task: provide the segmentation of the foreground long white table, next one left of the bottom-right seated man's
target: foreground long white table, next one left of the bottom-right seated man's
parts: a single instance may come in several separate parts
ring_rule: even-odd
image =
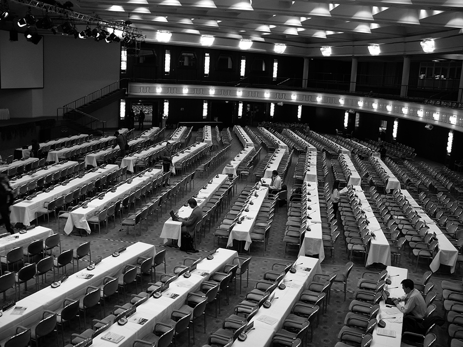
[[[319,259],[300,256],[295,264],[300,264],[295,267],[296,273],[287,272],[284,276],[284,280],[287,281],[286,288],[275,289],[276,292],[272,294],[275,299],[271,301],[271,306],[267,309],[262,306],[252,318],[254,330],[246,333],[248,337],[245,341],[236,340],[233,346],[268,347],[271,345],[273,335],[283,326],[285,318],[291,313],[291,308],[298,301],[302,291],[309,287],[315,274],[322,272]]]

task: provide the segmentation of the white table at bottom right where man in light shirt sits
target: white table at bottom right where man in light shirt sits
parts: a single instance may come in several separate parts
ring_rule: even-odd
[[[400,297],[404,295],[400,282],[405,280],[408,276],[408,270],[403,268],[397,268],[395,266],[388,266],[388,275],[390,276],[391,284],[387,285],[385,289],[389,291],[390,297]],[[396,318],[393,318],[396,317]],[[378,312],[377,320],[385,318],[387,330],[395,332],[396,337],[389,337],[384,335],[378,335],[379,327],[376,326],[373,330],[373,340],[371,347],[400,347],[402,340],[402,323],[403,313],[397,307],[386,307],[386,303],[381,300],[380,310]]]

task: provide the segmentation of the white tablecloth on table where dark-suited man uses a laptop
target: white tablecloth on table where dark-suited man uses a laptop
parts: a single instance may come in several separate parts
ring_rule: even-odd
[[[218,177],[217,175],[212,178],[211,183],[207,183],[207,186],[204,188],[201,188],[198,191],[196,202],[198,203],[199,208],[202,208],[207,201],[212,197],[212,195],[217,191],[217,189],[220,188],[220,186],[228,179],[228,175],[226,174],[219,174]],[[177,214],[181,218],[188,218],[190,217],[192,213],[192,209],[190,206],[182,206]],[[179,240],[178,245],[179,247],[181,246],[181,228],[182,228],[182,222],[178,221],[173,221],[172,217],[169,217],[169,219],[164,223],[162,226],[162,231],[161,237],[164,240],[164,243],[168,241],[169,238]]]

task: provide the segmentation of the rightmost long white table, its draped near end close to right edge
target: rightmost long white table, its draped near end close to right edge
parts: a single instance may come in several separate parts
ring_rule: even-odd
[[[408,200],[413,210],[418,213],[420,220],[423,221],[426,226],[428,226],[428,233],[435,233],[436,238],[439,241],[439,244],[437,245],[437,254],[429,265],[429,268],[432,270],[432,272],[436,272],[439,269],[440,264],[444,264],[450,266],[450,271],[454,273],[458,258],[457,248],[455,248],[455,246],[449,241],[445,234],[439,229],[439,227],[436,225],[436,222],[434,222],[423,211],[421,206],[418,205],[418,203],[415,201],[415,199],[413,199],[407,190],[402,189],[400,190],[400,193],[403,194],[403,196]]]

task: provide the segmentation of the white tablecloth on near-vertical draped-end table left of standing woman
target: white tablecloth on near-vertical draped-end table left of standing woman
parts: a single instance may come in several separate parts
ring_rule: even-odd
[[[318,198],[317,182],[310,182],[310,186],[306,186],[307,195],[310,200],[307,201],[307,227],[304,240],[302,241],[299,255],[316,255],[318,254],[320,262],[325,259],[325,249],[323,248],[322,237],[322,217],[320,216],[320,201]],[[311,218],[311,219],[309,219]]]

